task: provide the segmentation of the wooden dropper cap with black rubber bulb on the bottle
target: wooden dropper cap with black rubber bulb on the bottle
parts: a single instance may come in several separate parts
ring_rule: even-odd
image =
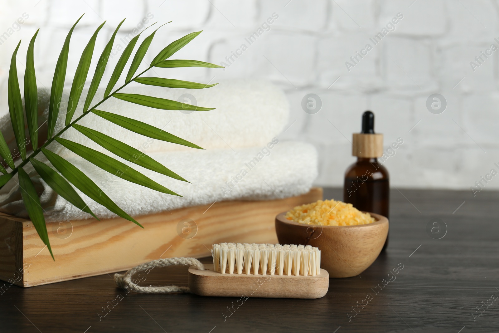
[[[364,158],[383,155],[383,134],[374,133],[374,113],[371,111],[362,114],[362,131],[353,133],[352,155]]]

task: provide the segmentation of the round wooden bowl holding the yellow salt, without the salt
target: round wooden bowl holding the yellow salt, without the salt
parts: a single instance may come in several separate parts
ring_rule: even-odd
[[[349,278],[364,272],[378,258],[388,235],[388,219],[369,213],[375,222],[357,226],[318,226],[287,220],[287,212],[275,217],[280,244],[318,247],[321,268],[331,278]]]

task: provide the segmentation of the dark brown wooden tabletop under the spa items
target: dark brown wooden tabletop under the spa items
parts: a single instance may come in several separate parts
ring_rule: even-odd
[[[360,276],[331,279],[322,299],[248,299],[226,317],[236,298],[127,295],[102,275],[11,286],[0,296],[0,332],[499,332],[499,192],[391,194],[388,250]],[[185,274],[158,269],[147,282],[185,284]]]

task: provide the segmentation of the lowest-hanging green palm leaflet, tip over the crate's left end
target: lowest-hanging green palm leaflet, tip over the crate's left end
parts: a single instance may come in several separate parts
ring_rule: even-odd
[[[43,209],[41,208],[38,193],[36,193],[36,189],[24,169],[19,168],[17,173],[19,175],[19,187],[21,188],[22,201],[26,206],[29,218],[43,241],[43,244],[47,246],[52,259],[55,260],[52,249],[50,248],[50,242],[48,241],[47,227],[45,226],[45,218],[43,217]]]

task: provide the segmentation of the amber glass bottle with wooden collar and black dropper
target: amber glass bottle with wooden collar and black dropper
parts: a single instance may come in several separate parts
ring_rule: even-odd
[[[343,201],[358,210],[389,215],[390,183],[388,170],[378,163],[383,155],[383,134],[374,133],[374,113],[362,115],[362,132],[353,134],[352,155],[357,162],[345,172]],[[388,246],[386,238],[383,250]]]

